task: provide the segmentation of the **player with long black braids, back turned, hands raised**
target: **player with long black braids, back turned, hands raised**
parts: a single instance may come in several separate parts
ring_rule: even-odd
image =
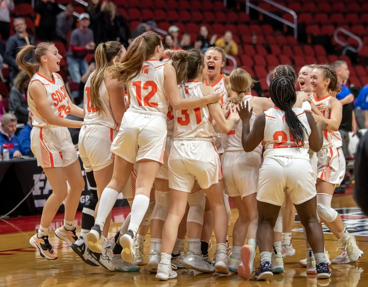
[[[270,84],[270,97],[275,108],[261,113],[256,118],[252,130],[250,119],[252,109],[249,104],[240,106],[243,120],[242,142],[245,151],[252,151],[264,140],[264,161],[259,171],[257,207],[257,240],[261,254],[261,264],[255,273],[256,280],[272,278],[271,249],[273,227],[280,207],[284,202],[287,186],[300,221],[305,227],[308,242],[315,253],[317,278],[329,278],[330,271],[323,252],[323,232],[316,216],[316,190],[313,170],[309,164],[308,146],[318,151],[322,146],[323,121],[315,123],[313,117],[300,108],[293,108],[296,102],[294,83],[287,77],[276,77]],[[303,180],[300,181],[300,178]],[[250,248],[241,250],[245,277],[250,276]]]

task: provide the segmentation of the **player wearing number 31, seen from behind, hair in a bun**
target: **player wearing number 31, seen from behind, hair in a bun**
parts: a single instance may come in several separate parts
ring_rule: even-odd
[[[206,98],[214,91],[212,87],[206,87],[201,82],[206,72],[206,65],[200,51],[176,52],[173,56],[173,65],[177,74],[177,84],[182,86],[180,89],[182,98]],[[177,277],[177,273],[171,269],[171,252],[187,202],[190,205],[188,221],[194,218],[202,225],[204,197],[194,193],[195,198],[190,200],[189,196],[195,179],[206,193],[213,210],[217,242],[215,270],[222,274],[229,273],[226,254],[227,218],[225,217],[227,214],[223,202],[222,169],[219,155],[212,142],[214,131],[210,113],[216,120],[219,130],[225,133],[229,132],[239,119],[237,113],[231,109],[229,119],[226,120],[218,103],[208,105],[208,108],[207,106],[181,110],[174,108],[174,140],[168,162],[171,204],[162,232],[161,261],[156,274],[156,279],[159,280]],[[191,232],[193,231],[188,230],[188,237],[191,238],[188,238],[188,253],[183,264],[189,256],[191,260],[188,260],[188,263],[191,263],[193,268],[199,269],[204,266],[199,266],[203,260],[199,238],[201,229],[196,232],[197,237],[194,238]]]

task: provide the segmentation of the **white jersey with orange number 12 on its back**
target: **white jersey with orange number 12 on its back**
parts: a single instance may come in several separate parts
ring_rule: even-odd
[[[143,62],[140,73],[127,84],[130,108],[167,114],[168,101],[164,90],[165,63],[150,59]]]

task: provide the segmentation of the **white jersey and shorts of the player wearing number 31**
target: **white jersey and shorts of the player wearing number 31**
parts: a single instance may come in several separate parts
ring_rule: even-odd
[[[180,88],[181,98],[203,97],[199,81]],[[212,116],[207,106],[174,111],[174,140],[169,158],[169,187],[191,192],[197,180],[202,189],[222,179],[222,168],[213,136]]]

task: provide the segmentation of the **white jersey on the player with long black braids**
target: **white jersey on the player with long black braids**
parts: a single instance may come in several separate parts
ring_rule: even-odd
[[[293,108],[293,112],[297,115],[302,125],[307,130],[305,135],[304,147],[296,148],[293,136],[290,132],[289,126],[286,123],[285,112],[279,108],[271,108],[265,111],[265,132],[263,140],[266,142],[265,153],[263,157],[277,156],[277,157],[293,157],[304,158],[309,160],[308,154],[308,138],[311,134],[307,115],[305,111],[300,108]]]

